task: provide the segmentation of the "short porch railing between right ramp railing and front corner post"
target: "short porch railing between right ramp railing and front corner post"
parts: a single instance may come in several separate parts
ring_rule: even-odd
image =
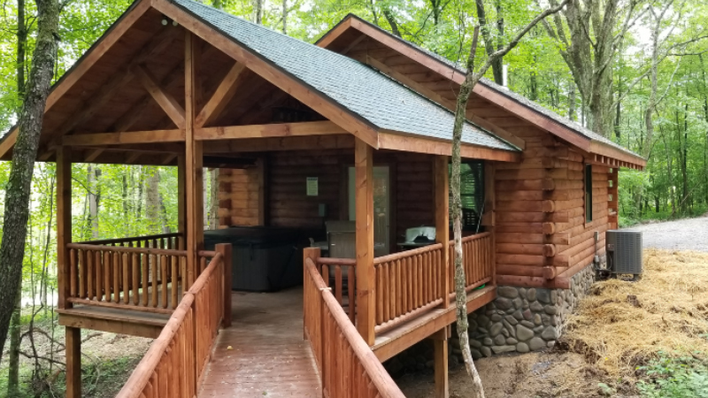
[[[353,258],[331,258],[319,257],[316,260],[317,271],[325,281],[325,286],[333,288],[335,300],[342,306],[344,312],[354,323],[356,319],[355,309],[357,287],[355,282],[355,266],[357,260]],[[346,293],[346,295],[345,295]]]

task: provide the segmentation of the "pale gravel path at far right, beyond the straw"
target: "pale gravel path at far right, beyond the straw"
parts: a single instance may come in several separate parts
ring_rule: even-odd
[[[708,251],[708,217],[631,226],[643,231],[644,248]]]

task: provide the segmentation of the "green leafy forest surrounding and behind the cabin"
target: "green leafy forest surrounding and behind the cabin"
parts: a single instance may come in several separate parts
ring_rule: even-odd
[[[132,3],[62,0],[58,80]],[[481,27],[478,58],[501,49],[529,15],[557,0],[204,0],[243,19],[316,42],[354,13],[463,65]],[[572,0],[543,20],[487,78],[618,142],[648,160],[620,170],[620,226],[708,211],[708,4],[695,0]],[[574,11],[568,11],[568,10]],[[34,1],[3,0],[0,14],[0,132],[19,118],[37,34]],[[505,81],[504,81],[505,80]],[[450,132],[451,134],[451,132]],[[0,162],[0,187],[11,164]],[[22,294],[0,364],[0,396],[61,394],[51,357],[19,341],[38,325],[51,341],[57,289],[56,166],[35,165]],[[73,165],[73,241],[174,232],[177,172],[171,167]],[[215,228],[216,171],[205,176],[205,228]],[[3,195],[4,196],[4,195]],[[19,310],[21,308],[21,310]],[[19,360],[21,357],[21,361]],[[31,361],[27,361],[31,357]],[[23,365],[18,369],[18,361]],[[30,364],[31,363],[31,364]],[[15,371],[12,371],[15,369]],[[18,376],[19,374],[19,376]],[[14,376],[13,376],[14,375]],[[17,379],[19,377],[19,379]],[[24,393],[22,393],[24,392]],[[21,393],[21,394],[20,394]]]

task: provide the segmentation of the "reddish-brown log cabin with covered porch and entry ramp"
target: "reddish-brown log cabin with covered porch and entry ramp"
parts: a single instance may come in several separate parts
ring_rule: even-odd
[[[382,363],[424,340],[448,396],[464,76],[355,16],[311,44],[193,0],[136,0],[44,114],[66,396],[81,396],[81,329],[156,339],[121,397],[402,397]],[[617,226],[619,168],[645,161],[489,80],[461,153],[475,354],[543,349]],[[177,167],[178,230],[72,241],[73,163]],[[218,231],[204,232],[205,168]]]

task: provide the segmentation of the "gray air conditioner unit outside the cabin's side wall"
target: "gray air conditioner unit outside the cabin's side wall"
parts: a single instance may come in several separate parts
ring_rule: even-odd
[[[614,274],[642,274],[642,231],[605,233],[607,268]]]

